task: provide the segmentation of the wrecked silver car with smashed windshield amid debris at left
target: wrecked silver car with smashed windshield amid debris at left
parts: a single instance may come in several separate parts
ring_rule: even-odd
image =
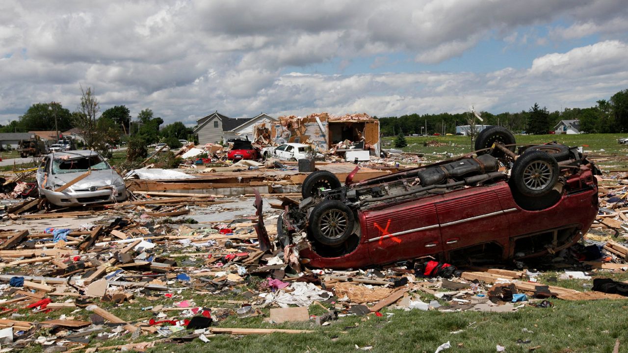
[[[37,184],[40,196],[58,206],[119,202],[127,197],[122,177],[95,151],[44,156],[37,170]]]

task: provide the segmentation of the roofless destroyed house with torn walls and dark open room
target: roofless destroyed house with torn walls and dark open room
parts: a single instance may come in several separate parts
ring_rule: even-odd
[[[364,149],[379,156],[379,120],[364,113],[281,116],[277,122],[255,124],[254,141],[259,144],[305,143],[318,151],[349,149],[348,141],[354,150]]]

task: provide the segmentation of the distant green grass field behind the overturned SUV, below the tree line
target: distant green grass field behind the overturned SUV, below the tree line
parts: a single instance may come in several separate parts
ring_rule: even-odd
[[[598,155],[618,155],[628,156],[628,145],[617,143],[617,139],[626,137],[625,134],[577,134],[577,135],[515,135],[517,143],[521,144],[541,144],[556,141],[568,146],[583,146],[585,151]],[[384,148],[394,148],[394,137],[384,138]],[[443,147],[425,147],[426,141],[438,141],[447,143]],[[454,156],[462,155],[474,150],[471,140],[467,136],[407,136],[408,146],[402,148],[405,152],[424,153],[428,161],[443,160],[445,153],[452,153]],[[604,151],[602,151],[604,150]],[[603,167],[625,168],[628,165],[628,158],[623,161],[602,161]]]

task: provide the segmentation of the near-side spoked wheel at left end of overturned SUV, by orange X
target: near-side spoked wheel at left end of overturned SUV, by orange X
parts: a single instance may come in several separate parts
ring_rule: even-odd
[[[349,206],[338,200],[325,200],[310,213],[310,235],[323,245],[335,246],[347,241],[355,226]]]

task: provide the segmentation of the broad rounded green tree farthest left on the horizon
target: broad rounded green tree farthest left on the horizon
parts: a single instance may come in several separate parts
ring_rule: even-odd
[[[59,131],[72,128],[72,114],[60,103],[35,103],[19,117],[22,131],[52,131],[55,129],[55,117]]]

